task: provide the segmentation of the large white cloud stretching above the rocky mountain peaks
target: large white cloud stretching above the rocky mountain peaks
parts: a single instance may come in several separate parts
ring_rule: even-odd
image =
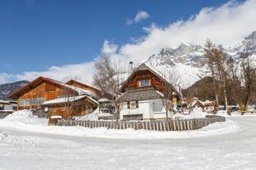
[[[176,21],[166,27],[152,24],[144,28],[145,37],[133,44],[123,44],[118,53],[138,63],[164,47],[177,48],[181,43],[204,46],[207,38],[227,48],[256,30],[255,20],[255,0],[230,1],[218,8],[203,8],[187,21]]]

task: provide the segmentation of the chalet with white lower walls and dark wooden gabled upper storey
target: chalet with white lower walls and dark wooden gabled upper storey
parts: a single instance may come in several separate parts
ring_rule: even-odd
[[[179,92],[167,80],[164,80],[158,71],[143,63],[131,72],[126,82],[121,87],[124,93],[119,98],[124,107],[121,109],[120,118],[123,120],[155,120],[166,117],[163,104],[166,90],[171,95],[173,108],[177,106]]]

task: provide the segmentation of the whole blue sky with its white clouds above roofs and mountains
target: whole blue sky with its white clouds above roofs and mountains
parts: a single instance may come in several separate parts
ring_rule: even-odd
[[[182,42],[234,45],[256,30],[255,11],[252,0],[1,0],[0,84],[73,75],[89,83],[103,52],[140,62]]]

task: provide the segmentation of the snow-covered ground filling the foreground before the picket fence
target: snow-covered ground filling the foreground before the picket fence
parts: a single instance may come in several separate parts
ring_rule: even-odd
[[[197,131],[89,129],[47,121],[29,112],[0,120],[0,169],[256,169],[255,113],[233,113]]]

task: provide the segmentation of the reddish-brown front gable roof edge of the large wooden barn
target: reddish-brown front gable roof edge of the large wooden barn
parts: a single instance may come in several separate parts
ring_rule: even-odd
[[[57,86],[59,88],[63,88],[63,89],[66,89],[66,90],[73,90],[73,91],[75,91],[73,88],[71,88],[68,85],[65,85],[65,84],[63,84],[63,83],[61,83],[61,82],[59,82],[57,80],[53,80],[53,79],[50,79],[50,78],[44,77],[44,76],[39,76],[35,80],[32,80],[29,84],[21,87],[21,89],[19,89],[19,90],[15,91],[14,93],[10,94],[8,96],[8,98],[17,99],[22,94],[26,94],[26,92],[36,88],[36,86],[42,84],[43,82],[46,82],[46,83],[48,83],[50,85],[55,85],[55,86]]]

